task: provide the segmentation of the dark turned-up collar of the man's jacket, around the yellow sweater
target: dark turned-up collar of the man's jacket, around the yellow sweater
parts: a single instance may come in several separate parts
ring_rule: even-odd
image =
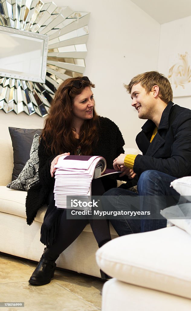
[[[173,102],[169,101],[169,103],[167,104],[166,108],[164,109],[163,113],[162,113],[162,117],[158,126],[158,130],[161,128],[168,128],[168,118],[169,118],[169,114],[170,114],[170,110],[173,106]],[[147,120],[145,122],[145,124],[143,124],[142,126],[142,130],[143,132],[149,132],[151,128],[154,127],[154,122],[151,120]]]

